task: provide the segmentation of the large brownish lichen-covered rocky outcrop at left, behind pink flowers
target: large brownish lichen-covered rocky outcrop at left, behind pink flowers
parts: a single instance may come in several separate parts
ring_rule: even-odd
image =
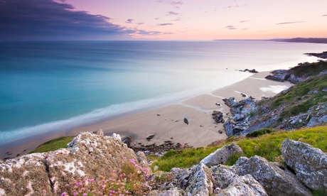
[[[129,159],[136,160],[136,155],[119,135],[82,133],[68,148],[0,161],[0,191],[3,195],[60,195],[72,178],[102,175],[109,179],[108,170],[119,170]]]

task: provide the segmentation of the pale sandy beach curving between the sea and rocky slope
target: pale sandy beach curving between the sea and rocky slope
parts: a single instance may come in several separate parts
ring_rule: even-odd
[[[35,136],[35,140],[27,143],[21,142],[20,146],[9,146],[7,149],[1,149],[1,159],[26,154],[41,143],[59,136],[75,136],[83,131],[97,131],[98,129],[102,129],[105,135],[117,133],[122,137],[132,136],[133,143],[161,144],[164,141],[171,140],[175,143],[188,143],[188,145],[194,147],[207,146],[213,141],[227,138],[223,124],[215,124],[211,115],[214,110],[217,110],[222,111],[225,118],[227,118],[230,109],[223,103],[224,98],[235,97],[237,101],[240,101],[246,98],[242,97],[241,93],[244,93],[248,97],[252,96],[259,100],[262,99],[262,96],[271,97],[283,89],[291,87],[289,82],[275,82],[264,79],[267,75],[269,75],[269,72],[259,72],[241,82],[197,97],[184,99],[177,104],[166,107],[123,116],[71,131],[64,131],[52,136],[47,134]],[[220,103],[220,106],[216,103]],[[184,118],[188,119],[188,124],[184,123]],[[223,131],[223,134],[219,133],[220,130]],[[154,138],[147,141],[146,137],[151,134],[155,135]]]

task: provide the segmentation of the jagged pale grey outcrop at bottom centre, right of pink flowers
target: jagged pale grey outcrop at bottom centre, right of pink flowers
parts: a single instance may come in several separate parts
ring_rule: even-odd
[[[226,165],[208,168],[200,163],[188,169],[173,168],[171,173],[175,177],[162,188],[173,195],[267,195],[264,187],[252,175],[239,176]],[[161,194],[168,192],[161,190]]]

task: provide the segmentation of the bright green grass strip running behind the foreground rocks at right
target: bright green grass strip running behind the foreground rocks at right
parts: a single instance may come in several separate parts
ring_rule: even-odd
[[[200,163],[200,160],[213,153],[216,149],[232,142],[237,143],[247,158],[254,155],[262,156],[269,161],[282,163],[282,152],[280,146],[282,141],[290,138],[294,141],[309,143],[314,148],[320,148],[327,152],[327,126],[316,126],[313,128],[300,129],[296,131],[272,131],[269,134],[263,134],[256,138],[238,138],[235,141],[226,141],[226,143],[215,147],[191,148],[183,151],[169,151],[168,156],[162,156],[158,162],[159,170],[169,171],[171,168],[190,168],[192,165]],[[233,165],[240,155],[235,155],[228,160],[227,165]]]

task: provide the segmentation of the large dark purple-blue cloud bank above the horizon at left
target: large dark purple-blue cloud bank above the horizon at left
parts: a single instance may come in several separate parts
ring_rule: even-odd
[[[53,0],[0,1],[0,29],[0,40],[117,39],[130,33],[106,16]]]

